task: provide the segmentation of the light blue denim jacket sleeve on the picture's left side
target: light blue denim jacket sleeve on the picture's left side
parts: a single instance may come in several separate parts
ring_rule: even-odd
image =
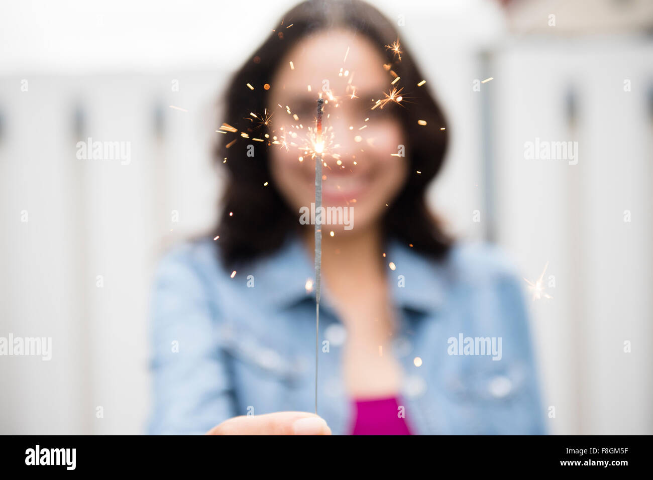
[[[235,416],[217,306],[191,246],[161,260],[150,307],[152,410],[148,434],[204,434]]]

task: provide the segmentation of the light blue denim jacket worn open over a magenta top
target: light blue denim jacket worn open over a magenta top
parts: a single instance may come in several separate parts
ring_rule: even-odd
[[[219,242],[219,240],[218,240]],[[236,272],[215,242],[168,252],[151,300],[150,434],[203,434],[237,415],[314,411],[313,261],[296,237]],[[498,249],[456,244],[443,261],[390,240],[389,291],[403,370],[400,412],[413,434],[545,434],[522,281]],[[347,332],[323,291],[317,413],[351,431],[343,385]],[[421,362],[419,359],[421,359]]]

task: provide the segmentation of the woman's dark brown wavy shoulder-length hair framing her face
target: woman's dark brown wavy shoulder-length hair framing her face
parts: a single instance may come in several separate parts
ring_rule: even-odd
[[[291,24],[293,26],[287,28]],[[426,187],[442,165],[449,129],[440,130],[447,123],[438,103],[428,89],[417,86],[423,77],[415,59],[403,44],[401,61],[385,47],[398,39],[398,31],[371,5],[359,0],[309,0],[283,15],[278,28],[234,74],[224,97],[226,121],[238,130],[219,135],[214,151],[216,163],[221,164],[225,157],[228,158],[229,179],[222,201],[223,211],[214,232],[220,236],[219,251],[228,268],[273,253],[289,234],[300,228],[298,214],[289,208],[279,191],[273,186],[263,186],[272,178],[268,148],[275,146],[265,142],[265,148],[257,148],[255,157],[247,157],[247,144],[252,142],[241,133],[254,133],[254,125],[245,118],[249,112],[270,108],[270,93],[263,86],[272,82],[289,50],[308,35],[332,28],[350,29],[372,40],[379,54],[401,77],[402,93],[411,101],[407,108],[396,108],[392,112],[405,126],[411,174],[385,211],[384,239],[394,236],[436,259],[449,249],[451,240],[429,212],[424,199]],[[419,127],[417,120],[426,120],[428,127]],[[264,138],[268,130],[265,126],[259,128],[264,131],[257,129],[252,136]],[[234,215],[230,216],[229,212]]]

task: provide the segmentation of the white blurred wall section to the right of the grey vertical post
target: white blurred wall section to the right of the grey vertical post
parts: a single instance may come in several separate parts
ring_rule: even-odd
[[[549,262],[556,281],[532,305],[554,432],[650,434],[653,46],[534,39],[502,48],[496,67],[498,240],[526,278]],[[579,142],[577,165],[524,159],[535,137]]]

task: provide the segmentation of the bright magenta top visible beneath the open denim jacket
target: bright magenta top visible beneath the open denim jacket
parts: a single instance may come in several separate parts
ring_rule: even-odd
[[[397,399],[355,400],[352,435],[410,435]]]

